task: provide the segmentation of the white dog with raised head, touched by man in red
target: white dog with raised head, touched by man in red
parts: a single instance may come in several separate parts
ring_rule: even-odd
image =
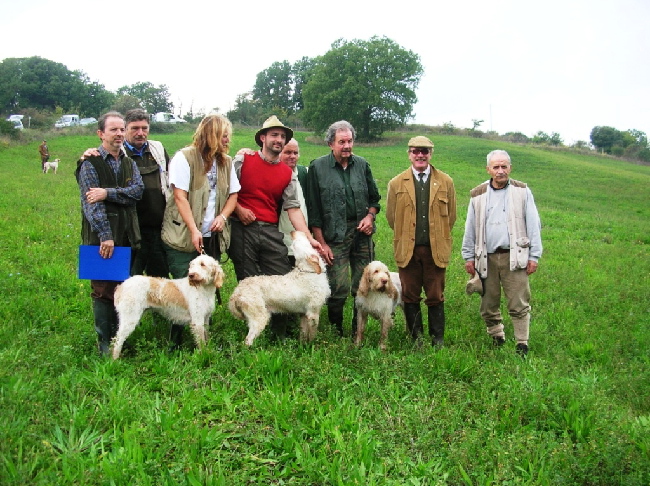
[[[291,237],[296,258],[293,270],[286,275],[245,278],[230,296],[230,312],[248,323],[244,341],[247,346],[253,344],[276,313],[299,314],[300,339],[312,341],[316,337],[321,307],[330,296],[325,262],[304,233],[293,231]]]

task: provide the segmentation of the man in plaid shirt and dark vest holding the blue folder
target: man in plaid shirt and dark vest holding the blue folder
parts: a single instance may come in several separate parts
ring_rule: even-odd
[[[97,135],[102,141],[99,155],[77,163],[81,237],[84,245],[96,245],[102,258],[111,258],[115,246],[138,248],[140,231],[136,202],[144,184],[135,162],[122,149],[126,132],[124,118],[116,111],[99,118]],[[111,214],[109,219],[108,215]],[[91,280],[95,331],[101,355],[109,354],[111,339],[117,331],[114,306],[115,288],[120,282]]]

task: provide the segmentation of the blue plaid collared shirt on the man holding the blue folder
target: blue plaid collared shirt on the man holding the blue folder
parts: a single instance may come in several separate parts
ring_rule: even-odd
[[[124,150],[120,150],[119,160],[115,159],[115,157],[113,157],[113,155],[111,155],[102,145],[99,146],[98,150],[101,158],[104,159],[104,162],[110,166],[117,176],[120,168],[120,161],[122,157],[126,157]],[[133,164],[133,180],[131,181],[131,184],[127,187],[105,188],[107,201],[122,204],[124,206],[134,206],[136,201],[142,197],[142,192],[144,190],[142,177],[140,176],[140,171],[135,162],[131,161],[131,163]],[[93,232],[97,233],[97,236],[99,236],[99,240],[112,240],[113,235],[108,222],[108,216],[106,215],[106,205],[103,201],[91,204],[86,198],[86,192],[94,187],[101,187],[99,185],[99,176],[97,175],[97,171],[93,165],[85,160],[83,164],[81,164],[81,169],[79,171],[81,208],[84,216],[90,223]]]

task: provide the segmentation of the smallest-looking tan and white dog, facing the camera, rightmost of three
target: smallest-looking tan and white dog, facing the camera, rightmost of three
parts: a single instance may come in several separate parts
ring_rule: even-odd
[[[389,272],[388,267],[375,260],[363,269],[359,290],[355,298],[357,307],[357,335],[354,344],[363,342],[368,316],[381,322],[379,348],[386,349],[388,330],[393,325],[395,308],[402,304],[402,283],[397,272]]]

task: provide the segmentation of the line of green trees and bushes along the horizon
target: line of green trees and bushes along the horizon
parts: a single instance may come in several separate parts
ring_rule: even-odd
[[[403,128],[413,117],[415,91],[423,72],[416,53],[386,37],[339,39],[322,56],[303,57],[293,64],[286,60],[271,64],[257,74],[252,90],[237,96],[227,116],[234,123],[257,127],[275,114],[288,125],[317,134],[323,133],[332,121],[346,119],[357,129],[360,141],[373,141],[386,131]],[[63,113],[97,117],[108,110],[174,110],[164,84],[139,82],[111,92],[82,71],[70,71],[63,64],[37,56],[2,61],[0,86],[0,110],[28,116],[33,127],[51,126],[53,118]],[[195,113],[192,107],[183,115],[190,122],[203,116],[202,111]],[[452,123],[418,128],[430,133],[564,146],[556,132],[539,131],[532,137],[521,132],[499,135],[481,131],[482,123],[472,120],[471,128],[457,128]],[[571,147],[593,147],[610,155],[650,162],[647,136],[634,129],[597,126],[591,131],[590,142],[580,140]]]

